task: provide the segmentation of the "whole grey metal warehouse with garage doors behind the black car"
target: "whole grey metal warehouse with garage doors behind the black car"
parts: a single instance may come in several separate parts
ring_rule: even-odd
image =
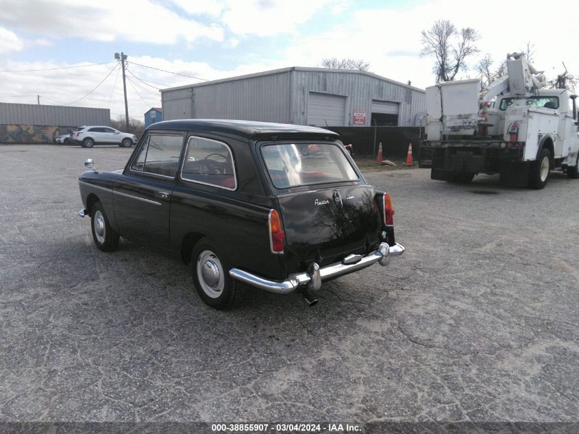
[[[364,71],[291,67],[162,89],[163,119],[419,125],[425,91]]]

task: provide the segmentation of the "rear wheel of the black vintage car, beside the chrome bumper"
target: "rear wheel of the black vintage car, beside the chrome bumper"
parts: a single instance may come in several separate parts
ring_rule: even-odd
[[[191,274],[201,300],[215,309],[226,309],[241,296],[240,287],[229,275],[225,257],[208,238],[201,239],[193,248]]]

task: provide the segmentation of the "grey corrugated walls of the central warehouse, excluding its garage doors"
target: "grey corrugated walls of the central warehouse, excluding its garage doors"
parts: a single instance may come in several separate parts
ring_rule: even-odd
[[[400,126],[415,125],[426,112],[424,91],[364,73],[287,69],[239,80],[162,91],[163,119],[246,119],[308,125],[310,92],[346,98],[346,126],[354,110],[370,125],[373,100],[399,104]]]

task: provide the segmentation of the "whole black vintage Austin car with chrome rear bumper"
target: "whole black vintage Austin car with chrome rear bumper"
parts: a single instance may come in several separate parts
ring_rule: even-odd
[[[315,145],[317,152],[308,152]],[[230,305],[243,282],[310,291],[373,263],[395,242],[387,193],[374,191],[339,136],[321,128],[226,120],[154,123],[124,169],[79,177],[97,248],[119,236],[190,263],[199,296]]]

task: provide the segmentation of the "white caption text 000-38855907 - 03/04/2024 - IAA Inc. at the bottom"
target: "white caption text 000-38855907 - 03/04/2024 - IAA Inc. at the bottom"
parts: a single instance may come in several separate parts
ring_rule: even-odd
[[[357,424],[317,424],[317,423],[278,423],[278,424],[212,424],[211,431],[234,433],[357,433]]]

